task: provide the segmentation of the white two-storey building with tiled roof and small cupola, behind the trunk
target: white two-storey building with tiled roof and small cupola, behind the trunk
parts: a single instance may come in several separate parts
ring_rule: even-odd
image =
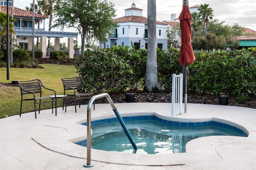
[[[118,28],[108,35],[108,42],[100,43],[100,48],[112,47],[113,45],[132,46],[136,49],[148,48],[148,20],[142,16],[142,9],[136,8],[133,3],[131,8],[125,9],[125,16],[114,19]],[[167,48],[167,24],[156,21],[157,47]]]

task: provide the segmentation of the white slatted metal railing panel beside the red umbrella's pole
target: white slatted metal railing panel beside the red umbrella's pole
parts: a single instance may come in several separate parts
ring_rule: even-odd
[[[183,74],[172,74],[172,116],[182,114]]]

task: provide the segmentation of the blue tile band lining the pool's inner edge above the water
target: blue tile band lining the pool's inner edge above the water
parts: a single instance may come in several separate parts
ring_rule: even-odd
[[[162,123],[164,125],[171,125],[171,126],[178,126],[178,127],[204,127],[208,125],[215,125],[218,127],[226,128],[228,130],[232,130],[234,132],[237,132],[238,134],[247,137],[248,134],[241,130],[240,128],[234,127],[232,125],[228,125],[226,123],[221,123],[217,121],[207,121],[207,122],[176,122],[176,121],[167,121],[164,119],[161,119],[159,117],[156,117],[154,115],[149,116],[129,116],[129,117],[122,117],[124,121],[137,121],[137,120],[154,120],[158,123]],[[98,125],[103,123],[112,123],[112,122],[118,122],[117,118],[108,118],[108,119],[100,119],[96,121],[91,121],[91,125]],[[87,123],[81,123],[81,125],[87,125]],[[74,142],[75,144],[84,146],[86,145],[87,140],[82,140],[79,142]]]

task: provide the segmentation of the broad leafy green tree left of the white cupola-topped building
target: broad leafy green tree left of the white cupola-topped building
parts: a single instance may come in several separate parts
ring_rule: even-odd
[[[76,28],[82,38],[81,52],[86,42],[107,42],[106,34],[118,27],[113,22],[116,10],[112,2],[106,0],[60,0],[57,19],[53,27]]]

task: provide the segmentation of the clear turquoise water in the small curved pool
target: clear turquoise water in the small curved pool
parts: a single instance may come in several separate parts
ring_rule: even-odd
[[[125,121],[134,139],[138,154],[170,154],[185,152],[188,141],[203,136],[242,136],[227,128],[208,125],[203,127],[178,127],[164,125],[155,120]],[[92,148],[106,151],[132,153],[130,144],[119,122],[92,125]]]

